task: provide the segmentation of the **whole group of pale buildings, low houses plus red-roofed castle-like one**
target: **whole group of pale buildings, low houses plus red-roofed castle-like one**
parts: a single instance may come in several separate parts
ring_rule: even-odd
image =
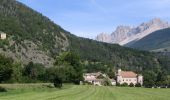
[[[143,76],[136,74],[133,71],[122,71],[118,69],[115,73],[116,76],[113,79],[110,79],[108,75],[97,72],[97,73],[84,73],[84,81],[88,82],[95,86],[105,85],[104,81],[108,79],[112,86],[119,85],[128,85],[128,86],[142,86],[143,85]]]

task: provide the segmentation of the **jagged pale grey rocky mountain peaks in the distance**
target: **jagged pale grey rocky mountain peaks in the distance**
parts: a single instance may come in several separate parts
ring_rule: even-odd
[[[107,43],[117,43],[120,45],[125,45],[130,42],[138,41],[144,38],[145,36],[151,34],[152,32],[168,27],[170,27],[168,22],[162,21],[159,18],[154,18],[151,21],[147,23],[142,23],[134,28],[131,28],[130,26],[118,26],[117,29],[111,35],[102,34],[100,35],[100,38],[96,38],[96,40]],[[103,41],[103,37],[107,38],[104,38]]]

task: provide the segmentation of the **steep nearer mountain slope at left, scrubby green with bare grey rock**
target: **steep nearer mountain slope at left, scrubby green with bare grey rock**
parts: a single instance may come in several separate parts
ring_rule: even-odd
[[[15,0],[0,0],[0,31],[8,44],[0,52],[25,63],[52,65],[52,56],[68,46],[60,26]]]

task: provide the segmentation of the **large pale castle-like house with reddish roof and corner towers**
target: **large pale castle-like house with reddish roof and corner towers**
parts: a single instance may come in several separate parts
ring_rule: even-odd
[[[117,72],[117,83],[127,83],[128,85],[130,85],[130,83],[134,85],[140,83],[143,85],[143,76],[132,71],[122,71],[119,69]]]

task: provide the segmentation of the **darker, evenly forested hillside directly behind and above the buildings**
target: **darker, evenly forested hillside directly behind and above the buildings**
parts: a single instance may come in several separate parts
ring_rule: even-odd
[[[138,51],[119,45],[97,42],[90,39],[70,36],[70,50],[78,53],[83,60],[105,62],[112,67],[143,71],[155,69],[159,62],[154,54]]]

